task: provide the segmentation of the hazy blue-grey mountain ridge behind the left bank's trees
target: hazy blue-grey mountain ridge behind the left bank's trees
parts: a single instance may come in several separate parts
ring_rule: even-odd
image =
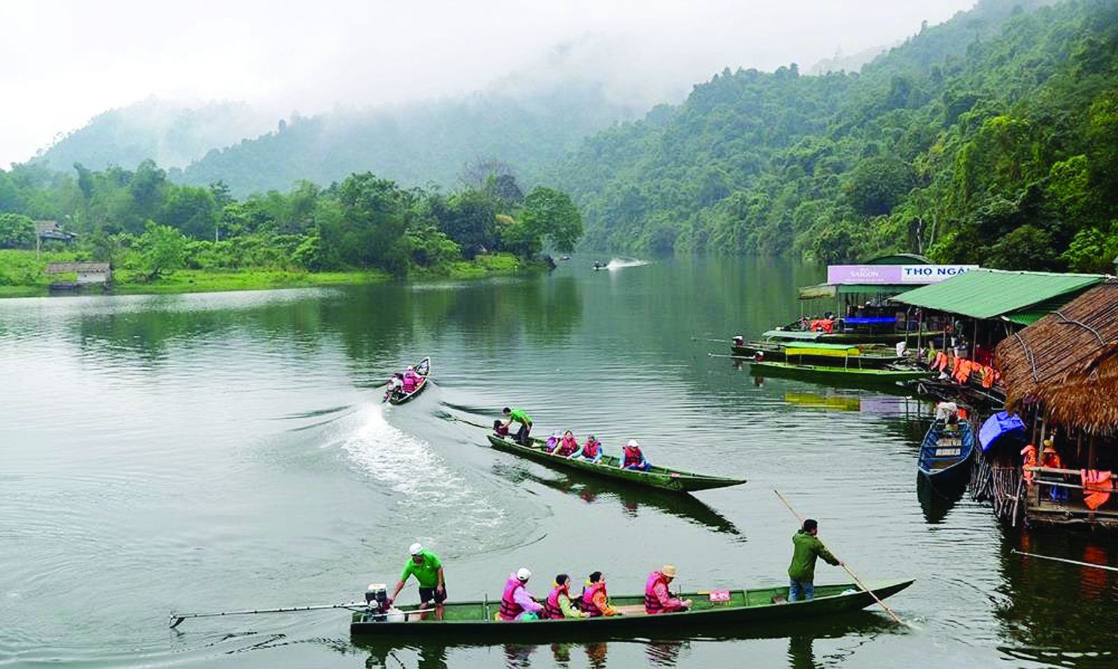
[[[453,185],[463,166],[496,159],[522,174],[574,150],[631,108],[589,80],[524,94],[496,89],[464,98],[295,117],[280,130],[245,140],[171,178],[229,184],[237,194],[286,190],[299,180],[330,183],[372,171],[409,185]]]

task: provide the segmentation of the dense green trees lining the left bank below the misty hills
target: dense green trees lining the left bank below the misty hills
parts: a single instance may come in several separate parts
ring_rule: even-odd
[[[34,220],[79,235],[77,257],[142,269],[284,268],[437,273],[479,254],[524,259],[544,245],[570,250],[582,230],[571,199],[539,187],[527,195],[503,165],[471,170],[453,193],[405,189],[371,173],[320,188],[300,182],[237,200],[220,182],[180,185],[152,161],[135,170],[75,165],[75,174],[25,164],[0,171],[0,248],[35,248]],[[64,242],[50,242],[66,249]],[[22,271],[35,276],[22,276]],[[0,284],[35,284],[41,266],[0,271]]]

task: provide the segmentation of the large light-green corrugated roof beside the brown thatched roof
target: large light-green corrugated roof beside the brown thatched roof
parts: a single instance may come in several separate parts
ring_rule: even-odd
[[[1050,274],[972,269],[938,284],[921,286],[892,297],[893,302],[972,318],[996,318],[1067,296],[1101,283],[1100,274]]]

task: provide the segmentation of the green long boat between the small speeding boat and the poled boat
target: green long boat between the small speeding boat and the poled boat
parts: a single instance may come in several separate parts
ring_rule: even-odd
[[[676,493],[692,493],[694,490],[709,490],[711,488],[724,488],[746,482],[746,479],[724,478],[721,476],[707,476],[704,474],[693,474],[681,469],[669,467],[653,467],[648,471],[636,471],[633,469],[622,469],[620,459],[608,453],[601,456],[601,462],[588,462],[578,458],[565,458],[549,453],[543,448],[543,441],[530,439],[531,446],[521,446],[510,439],[503,439],[496,434],[489,436],[493,448],[509,453],[514,453],[537,462],[542,462],[551,467],[565,469],[576,469],[596,476],[604,476],[610,479],[624,481],[635,486],[647,488],[660,488],[662,490],[674,490]]]

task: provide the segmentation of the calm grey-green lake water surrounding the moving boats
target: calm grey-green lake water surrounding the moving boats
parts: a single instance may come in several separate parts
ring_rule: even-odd
[[[485,281],[0,302],[0,666],[1114,667],[1118,574],[1021,548],[1118,557],[1106,536],[1018,533],[964,497],[921,506],[929,408],[755,381],[722,342],[798,316],[796,260],[675,258]],[[436,385],[378,386],[425,355]],[[536,432],[641,440],[654,462],[740,476],[675,499],[491,450],[505,404]],[[864,579],[917,579],[880,612],[736,639],[362,647],[349,614],[168,613],[361,599],[407,546],[453,599],[600,570],[642,592],[785,584],[796,520]],[[844,582],[819,563],[816,582]],[[401,601],[416,599],[411,585]]]

